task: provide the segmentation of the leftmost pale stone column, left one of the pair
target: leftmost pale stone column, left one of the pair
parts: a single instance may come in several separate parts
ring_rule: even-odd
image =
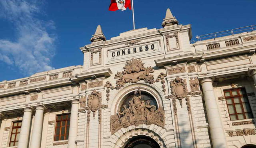
[[[18,148],[28,148],[28,137],[30,134],[32,109],[25,108],[20,129]]]

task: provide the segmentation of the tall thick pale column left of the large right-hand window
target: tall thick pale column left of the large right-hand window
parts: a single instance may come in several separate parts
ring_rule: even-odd
[[[218,104],[214,95],[211,78],[200,81],[204,94],[204,102],[208,116],[212,145],[214,148],[227,148],[226,135],[222,125]]]

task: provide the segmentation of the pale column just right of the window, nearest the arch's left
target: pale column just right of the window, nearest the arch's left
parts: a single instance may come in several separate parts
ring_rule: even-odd
[[[69,135],[68,135],[68,148],[76,148],[75,140],[77,138],[77,128],[78,128],[78,108],[79,108],[79,101],[72,100]]]

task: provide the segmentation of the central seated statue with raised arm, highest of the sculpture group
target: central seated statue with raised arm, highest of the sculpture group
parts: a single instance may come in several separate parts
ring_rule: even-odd
[[[133,115],[142,114],[144,112],[144,105],[142,104],[141,99],[141,91],[140,87],[138,87],[138,91],[134,91],[134,97],[130,102],[130,111]]]

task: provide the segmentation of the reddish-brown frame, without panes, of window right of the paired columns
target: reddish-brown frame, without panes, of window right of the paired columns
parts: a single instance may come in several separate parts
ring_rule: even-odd
[[[58,120],[58,116],[64,116],[64,115],[66,115],[66,119],[62,119],[62,117],[61,117],[60,120]],[[68,135],[67,135],[67,127],[70,126],[70,117],[68,118],[68,115],[71,116],[71,113],[68,112],[68,113],[65,113],[65,114],[56,114],[55,129],[54,129],[54,142],[55,142],[55,141],[60,141],[61,136],[63,136],[63,134],[61,133],[61,128],[62,128],[62,127],[65,127],[65,131],[64,131],[64,140],[68,140],[68,137],[67,137],[67,136],[69,136],[69,131],[68,131]],[[66,122],[65,122],[65,126],[62,126],[62,121],[66,121]],[[67,121],[69,121],[69,125],[67,125]],[[57,125],[58,125],[58,124],[57,124],[58,122],[60,122],[60,126],[57,126]],[[58,135],[56,135],[57,128],[60,128],[60,133],[59,133]],[[68,128],[68,130],[69,130],[69,128]],[[58,136],[59,138],[56,139],[56,136]]]

